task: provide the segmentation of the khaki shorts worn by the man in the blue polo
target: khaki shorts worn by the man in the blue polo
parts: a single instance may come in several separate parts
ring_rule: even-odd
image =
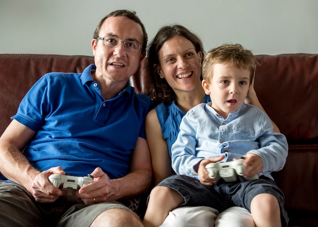
[[[113,208],[134,213],[116,201],[87,205],[68,195],[54,203],[39,203],[21,185],[0,181],[0,226],[88,227],[98,215]]]

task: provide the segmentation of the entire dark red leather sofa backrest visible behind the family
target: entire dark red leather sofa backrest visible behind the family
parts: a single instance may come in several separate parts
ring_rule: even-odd
[[[255,90],[270,118],[291,144],[318,143],[318,55],[257,55]],[[50,71],[81,72],[92,56],[0,54],[0,133],[27,90]],[[145,93],[144,61],[130,79]]]

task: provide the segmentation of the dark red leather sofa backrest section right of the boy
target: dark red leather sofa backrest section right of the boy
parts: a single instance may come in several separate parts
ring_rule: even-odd
[[[293,143],[318,143],[318,55],[258,55],[255,90],[262,106]]]

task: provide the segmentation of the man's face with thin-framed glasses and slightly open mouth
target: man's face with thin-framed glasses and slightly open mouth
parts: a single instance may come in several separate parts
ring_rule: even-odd
[[[112,36],[125,42],[136,41],[143,43],[143,30],[140,24],[126,17],[109,17],[101,26],[100,37]],[[124,49],[123,43],[118,47],[107,47],[103,40],[92,40],[92,50],[96,64],[96,78],[110,82],[126,82],[133,75],[140,61],[145,56],[141,48],[138,52]]]

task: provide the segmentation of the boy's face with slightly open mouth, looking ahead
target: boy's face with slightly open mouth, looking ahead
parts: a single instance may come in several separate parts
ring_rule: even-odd
[[[212,107],[226,119],[244,102],[249,85],[249,70],[240,69],[231,64],[216,63],[211,83],[202,81],[207,95],[210,95]]]

